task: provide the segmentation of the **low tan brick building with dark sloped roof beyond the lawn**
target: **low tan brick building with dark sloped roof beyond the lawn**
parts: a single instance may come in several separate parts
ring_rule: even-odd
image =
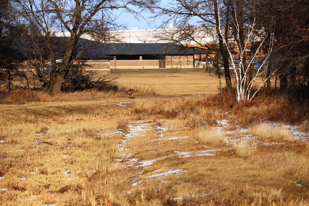
[[[201,51],[164,43],[112,44],[103,49],[112,56],[110,69],[194,68]]]

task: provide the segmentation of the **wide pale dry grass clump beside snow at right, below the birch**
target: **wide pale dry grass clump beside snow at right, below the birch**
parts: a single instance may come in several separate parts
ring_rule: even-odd
[[[249,133],[252,133],[254,136],[263,139],[263,140],[271,140],[271,141],[291,141],[291,137],[287,129],[283,126],[275,126],[271,127],[269,124],[257,124],[254,125]]]

